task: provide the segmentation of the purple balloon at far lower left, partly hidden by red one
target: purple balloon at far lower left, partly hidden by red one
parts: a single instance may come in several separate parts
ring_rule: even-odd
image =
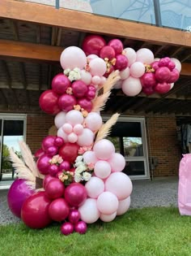
[[[28,187],[26,180],[17,179],[11,184],[11,188],[7,194],[7,202],[11,212],[18,218],[21,218],[23,202],[25,202],[32,193],[35,193],[35,191]]]

